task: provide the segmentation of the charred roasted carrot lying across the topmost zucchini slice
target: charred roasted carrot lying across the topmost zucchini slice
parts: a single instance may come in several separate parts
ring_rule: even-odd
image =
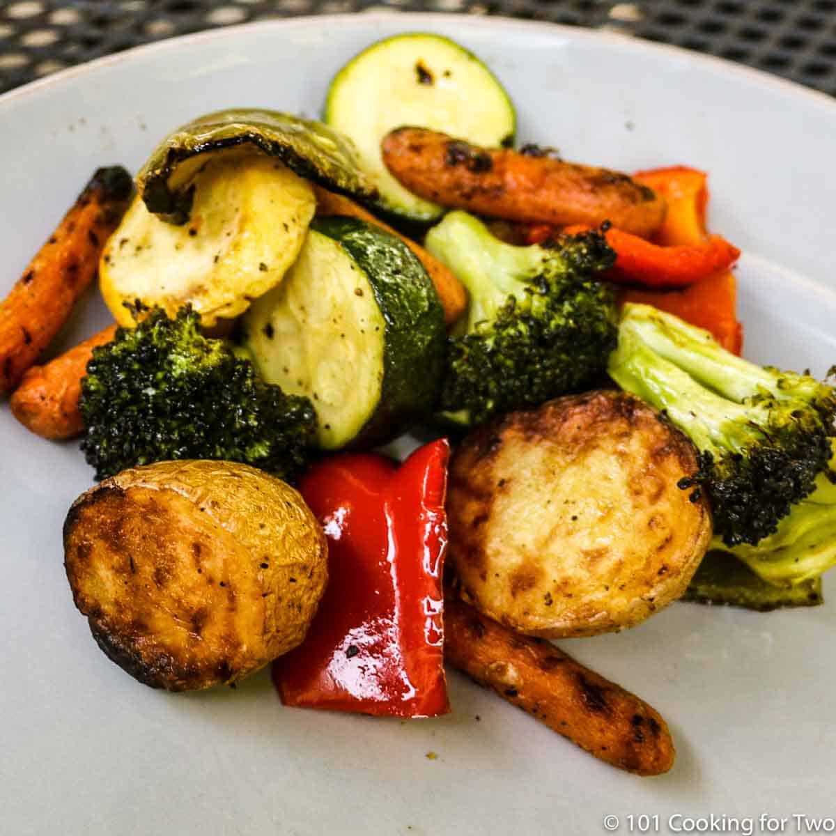
[[[583,223],[650,237],[665,218],[665,200],[625,174],[484,149],[421,128],[386,135],[383,159],[416,195],[488,217],[557,227]]]

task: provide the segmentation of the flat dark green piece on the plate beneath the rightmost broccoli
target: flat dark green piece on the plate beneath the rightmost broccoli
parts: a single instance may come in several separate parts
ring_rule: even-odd
[[[758,578],[733,554],[716,550],[702,559],[682,600],[728,604],[762,613],[782,607],[815,607],[824,603],[820,577],[793,586],[775,586]]]

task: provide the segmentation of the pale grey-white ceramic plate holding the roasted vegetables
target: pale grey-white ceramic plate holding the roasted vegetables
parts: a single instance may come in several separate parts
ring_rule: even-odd
[[[710,171],[712,226],[746,251],[747,354],[819,374],[836,360],[836,104],[696,54],[497,19],[230,28],[7,94],[0,291],[96,166],[135,169],[171,128],[209,110],[316,115],[346,59],[415,29],[487,61],[517,105],[522,140],[628,171]],[[91,295],[64,342],[106,319]],[[237,691],[151,691],[98,650],[69,594],[61,523],[91,483],[77,446],[30,436],[3,408],[0,476],[3,833],[603,833],[605,815],[629,833],[631,814],[658,816],[650,832],[665,833],[689,826],[669,821],[677,813],[755,817],[755,833],[766,813],[793,833],[793,813],[836,813],[836,600],[776,614],[675,604],[624,634],[563,642],[669,721],[676,765],[640,779],[456,674],[455,712],[436,721],[283,709],[266,672]]]

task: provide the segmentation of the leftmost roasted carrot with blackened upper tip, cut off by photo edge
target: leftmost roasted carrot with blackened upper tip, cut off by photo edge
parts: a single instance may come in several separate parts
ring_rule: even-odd
[[[0,393],[14,389],[67,321],[96,274],[104,242],[125,213],[132,188],[121,166],[96,171],[0,303]]]

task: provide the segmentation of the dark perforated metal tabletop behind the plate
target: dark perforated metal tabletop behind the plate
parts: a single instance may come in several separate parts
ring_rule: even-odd
[[[719,55],[836,95],[836,0],[12,0],[0,2],[0,92],[172,35],[368,9],[611,28]]]

